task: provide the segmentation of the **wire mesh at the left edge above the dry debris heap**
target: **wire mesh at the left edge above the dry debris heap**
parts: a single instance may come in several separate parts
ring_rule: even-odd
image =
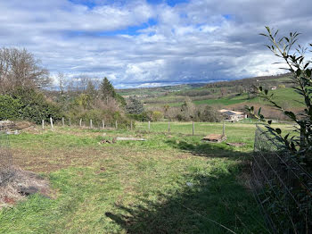
[[[0,124],[0,185],[9,180],[13,173],[8,130],[9,124]]]

